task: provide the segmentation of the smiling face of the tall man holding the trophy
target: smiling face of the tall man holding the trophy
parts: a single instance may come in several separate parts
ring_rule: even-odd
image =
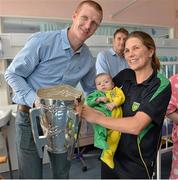
[[[93,7],[84,4],[81,9],[73,15],[73,33],[79,42],[88,39],[100,25],[102,16]]]

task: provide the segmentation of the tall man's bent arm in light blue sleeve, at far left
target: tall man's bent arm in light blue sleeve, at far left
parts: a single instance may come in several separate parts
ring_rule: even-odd
[[[27,83],[28,76],[38,64],[36,60],[38,56],[33,49],[36,46],[35,43],[33,40],[28,41],[5,72],[5,79],[15,93],[14,102],[30,107],[33,106],[36,98],[35,91]]]

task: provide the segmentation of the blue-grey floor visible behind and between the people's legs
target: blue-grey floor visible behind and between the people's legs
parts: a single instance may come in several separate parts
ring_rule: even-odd
[[[92,156],[90,156],[92,155]],[[87,157],[88,156],[88,157]],[[165,153],[162,155],[162,167],[161,167],[161,179],[168,179],[170,168],[171,168],[171,152]],[[89,149],[86,152],[84,151],[84,158],[87,165],[87,170],[85,166],[81,163],[79,158],[72,160],[72,167],[70,170],[71,179],[100,179],[100,160],[99,160],[99,151],[96,149]],[[50,179],[50,165],[45,164],[43,170],[43,178]],[[9,179],[9,173],[0,174],[5,179]],[[18,178],[18,171],[13,172],[13,178]],[[156,179],[156,177],[155,177]]]

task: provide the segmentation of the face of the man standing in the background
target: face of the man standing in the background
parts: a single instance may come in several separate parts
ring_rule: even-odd
[[[115,38],[113,39],[113,49],[119,55],[123,55],[126,38],[126,34],[118,32]]]

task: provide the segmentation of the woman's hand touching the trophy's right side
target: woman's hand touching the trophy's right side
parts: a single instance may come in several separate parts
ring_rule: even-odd
[[[81,117],[90,123],[96,123],[99,118],[105,117],[102,112],[99,112],[87,105],[82,106]]]

